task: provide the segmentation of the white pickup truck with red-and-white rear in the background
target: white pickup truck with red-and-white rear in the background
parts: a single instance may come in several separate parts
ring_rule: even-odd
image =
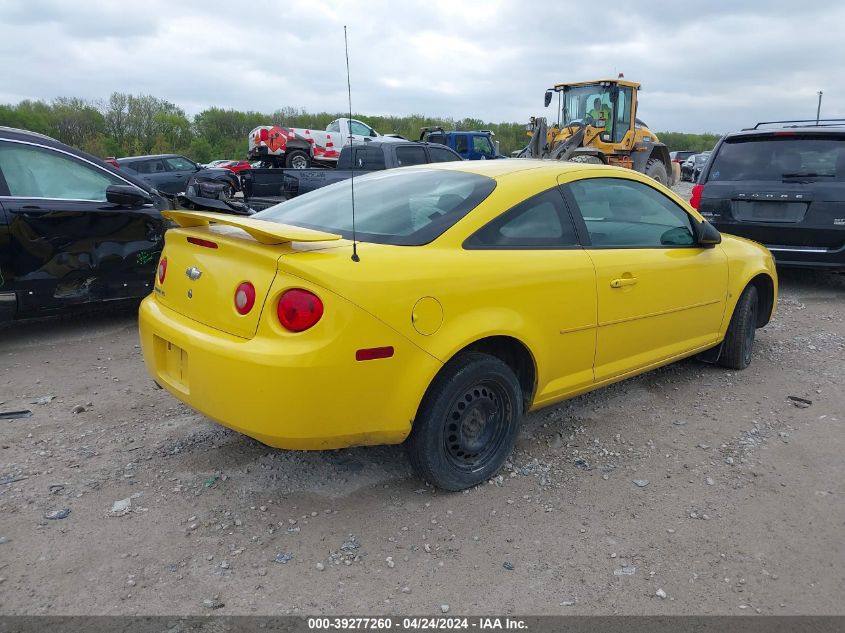
[[[335,119],[325,131],[259,125],[249,133],[249,160],[290,169],[306,169],[312,163],[334,167],[344,145],[363,143],[365,139],[405,140],[394,135],[383,136],[357,119]]]

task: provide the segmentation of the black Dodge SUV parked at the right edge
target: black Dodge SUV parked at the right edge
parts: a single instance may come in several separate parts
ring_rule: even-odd
[[[845,119],[774,121],[724,136],[690,204],[781,266],[845,269]]]

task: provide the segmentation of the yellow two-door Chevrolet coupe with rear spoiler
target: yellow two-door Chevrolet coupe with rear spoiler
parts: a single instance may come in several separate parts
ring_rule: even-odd
[[[159,385],[270,446],[405,442],[448,490],[494,475],[527,411],[695,354],[746,367],[777,298],[764,247],[615,167],[441,163],[165,215]]]

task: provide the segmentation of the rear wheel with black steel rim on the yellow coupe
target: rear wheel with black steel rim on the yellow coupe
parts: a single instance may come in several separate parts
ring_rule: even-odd
[[[522,388],[498,358],[478,352],[449,361],[423,397],[405,440],[414,471],[458,491],[496,474],[522,422]]]

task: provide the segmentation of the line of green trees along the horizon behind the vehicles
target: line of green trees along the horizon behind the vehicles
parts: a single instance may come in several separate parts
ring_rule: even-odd
[[[115,92],[105,100],[89,101],[59,97],[51,102],[25,100],[0,105],[0,125],[22,128],[52,136],[100,157],[141,154],[184,154],[205,163],[218,158],[246,157],[247,135],[258,125],[283,124],[322,130],[338,112],[307,112],[283,107],[273,113],[239,111],[212,107],[193,117],[166,99],[152,95]],[[490,123],[481,119],[436,118],[421,114],[409,116],[368,116],[353,114],[381,132],[395,133],[416,140],[420,128],[441,126],[446,130],[490,130],[507,155],[528,142],[522,123]],[[716,134],[658,132],[670,150],[712,149]]]

